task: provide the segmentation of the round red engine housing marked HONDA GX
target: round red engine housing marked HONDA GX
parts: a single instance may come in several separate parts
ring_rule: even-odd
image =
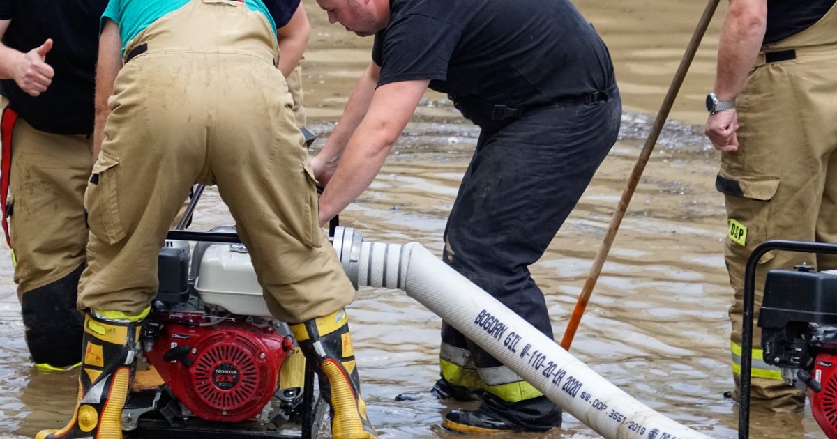
[[[177,347],[180,360],[163,359]],[[146,356],[174,396],[196,416],[239,422],[255,419],[270,401],[292,349],[291,340],[272,328],[239,322],[208,327],[166,323]]]

